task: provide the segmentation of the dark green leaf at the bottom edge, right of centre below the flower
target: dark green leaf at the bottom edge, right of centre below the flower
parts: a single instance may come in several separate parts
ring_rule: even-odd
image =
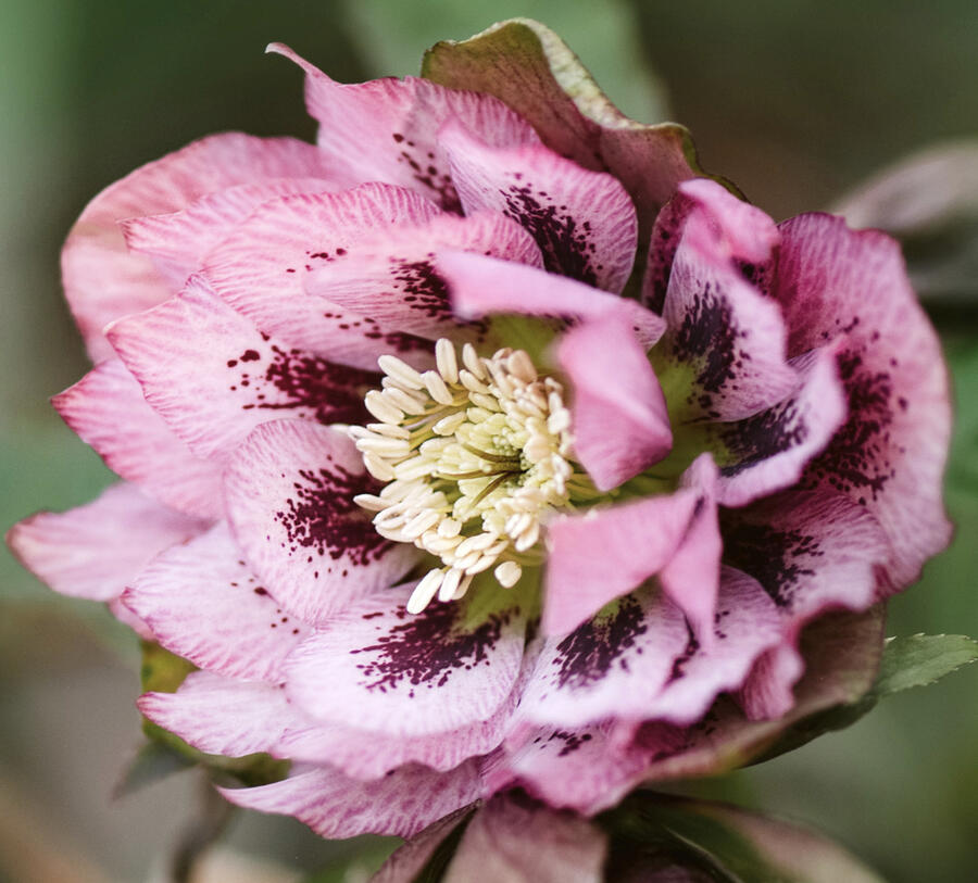
[[[687,872],[725,883],[879,883],[842,847],[734,806],[638,792],[599,819],[611,834],[606,878]]]

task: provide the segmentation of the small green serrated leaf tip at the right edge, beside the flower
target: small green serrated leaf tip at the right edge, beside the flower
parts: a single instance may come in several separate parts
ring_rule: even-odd
[[[912,686],[927,686],[976,659],[978,641],[963,634],[891,638],[870,692],[881,698]]]

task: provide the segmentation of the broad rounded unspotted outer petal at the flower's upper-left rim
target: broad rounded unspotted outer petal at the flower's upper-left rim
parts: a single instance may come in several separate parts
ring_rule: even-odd
[[[312,144],[228,133],[195,141],[99,193],[61,256],[65,295],[92,359],[112,354],[101,337],[105,325],[173,293],[149,258],[128,251],[117,220],[175,212],[225,187],[284,177],[337,180],[328,157]]]

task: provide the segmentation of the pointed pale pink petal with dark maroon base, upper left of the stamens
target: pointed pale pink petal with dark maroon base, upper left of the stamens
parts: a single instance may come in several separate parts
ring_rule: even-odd
[[[276,417],[359,424],[376,371],[327,362],[255,329],[201,276],[106,335],[147,401],[201,457],[223,459]]]

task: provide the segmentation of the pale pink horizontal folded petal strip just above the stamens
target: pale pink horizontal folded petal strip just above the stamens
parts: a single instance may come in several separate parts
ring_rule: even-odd
[[[659,316],[635,301],[536,267],[448,251],[439,252],[436,263],[449,283],[455,314],[463,319],[519,313],[573,320],[614,313],[631,323],[645,348],[652,346],[666,327]]]

